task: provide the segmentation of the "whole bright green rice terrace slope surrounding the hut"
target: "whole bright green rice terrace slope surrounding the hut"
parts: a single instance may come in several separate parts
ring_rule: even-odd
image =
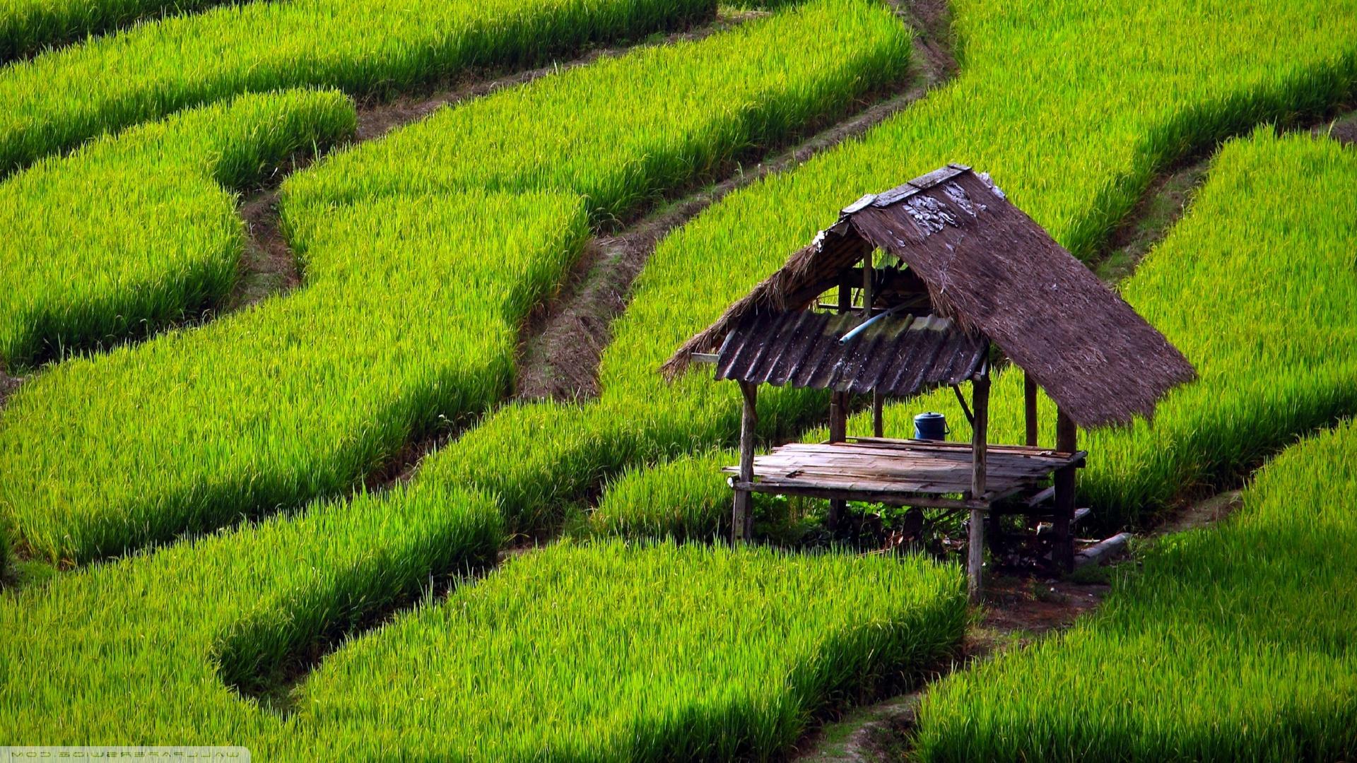
[[[0,0],[0,745],[772,760],[905,692],[851,756],[1357,758],[1357,0]],[[1198,379],[1080,527],[1243,496],[982,657],[962,519],[727,544],[740,394],[660,371],[950,162],[1094,267],[1197,186],[1099,267]]]

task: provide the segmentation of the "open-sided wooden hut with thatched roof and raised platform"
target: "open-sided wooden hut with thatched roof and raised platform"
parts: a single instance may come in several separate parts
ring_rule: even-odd
[[[878,257],[879,254],[879,257]],[[1026,443],[988,441],[999,354],[1023,371]],[[950,164],[864,196],[665,364],[715,364],[740,383],[734,539],[750,491],[969,509],[968,572],[978,596],[984,517],[1008,501],[1052,517],[1053,561],[1073,561],[1076,426],[1149,417],[1191,364],[1115,292],[1014,206],[984,174]],[[972,383],[969,409],[957,384]],[[829,440],[754,455],[759,384],[830,390]],[[881,406],[951,386],[970,444],[885,439]],[[1056,447],[1037,445],[1037,388],[1058,406]],[[847,437],[851,395],[873,396],[874,437]],[[1052,485],[1046,485],[1046,482]]]

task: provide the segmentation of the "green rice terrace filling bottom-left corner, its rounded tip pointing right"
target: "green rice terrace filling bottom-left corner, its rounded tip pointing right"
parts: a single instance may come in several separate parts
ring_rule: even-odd
[[[315,504],[0,593],[0,739],[243,744],[259,756],[267,737],[299,733],[231,687],[277,690],[432,582],[495,559],[493,501],[398,491],[399,508]]]

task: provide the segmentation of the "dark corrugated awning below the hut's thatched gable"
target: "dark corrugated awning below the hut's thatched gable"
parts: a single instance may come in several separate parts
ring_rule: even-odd
[[[726,335],[716,379],[904,396],[962,382],[984,358],[985,341],[946,318],[885,315],[840,341],[860,323],[855,312],[748,315]]]

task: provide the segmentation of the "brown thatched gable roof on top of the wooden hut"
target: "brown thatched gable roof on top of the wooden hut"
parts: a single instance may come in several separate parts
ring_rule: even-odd
[[[927,288],[932,308],[988,338],[1080,426],[1149,417],[1196,372],[1125,300],[1014,206],[988,178],[951,164],[845,208],[787,263],[665,362],[710,353],[750,315],[807,310],[839,273],[882,248]]]

